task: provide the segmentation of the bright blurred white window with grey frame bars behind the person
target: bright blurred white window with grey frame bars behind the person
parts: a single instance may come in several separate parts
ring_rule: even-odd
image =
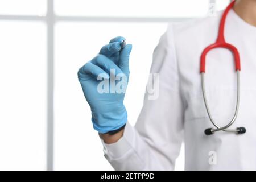
[[[78,69],[115,36],[133,44],[125,105],[134,125],[168,22],[214,15],[228,3],[0,0],[0,170],[112,170]],[[184,169],[184,146],[176,169]]]

